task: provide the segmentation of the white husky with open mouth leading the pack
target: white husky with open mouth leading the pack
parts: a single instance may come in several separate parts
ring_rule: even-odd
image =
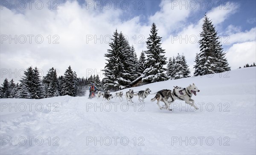
[[[191,99],[191,97],[193,94],[196,96],[196,92],[200,92],[200,90],[198,90],[198,88],[193,83],[193,85],[189,85],[188,87],[186,87],[185,92],[186,92],[186,95],[181,96],[178,99],[185,101],[186,104],[189,104],[198,110],[198,107],[195,105],[195,101]],[[192,101],[192,103],[190,101]]]

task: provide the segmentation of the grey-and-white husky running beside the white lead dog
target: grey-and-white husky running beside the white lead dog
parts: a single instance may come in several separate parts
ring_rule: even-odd
[[[173,91],[172,90],[168,90],[168,89],[163,89],[157,92],[156,96],[151,99],[151,102],[157,100],[157,105],[160,109],[164,108],[164,107],[160,107],[159,102],[163,101],[165,104],[165,108],[166,110],[172,110],[170,109],[170,104],[175,101],[176,99],[178,99],[178,97],[181,97],[184,95],[184,93],[182,91],[184,91],[185,88],[183,87],[174,87]],[[172,101],[168,101],[169,99],[172,99]]]

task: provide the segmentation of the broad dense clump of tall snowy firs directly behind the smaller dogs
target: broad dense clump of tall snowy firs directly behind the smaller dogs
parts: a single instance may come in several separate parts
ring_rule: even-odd
[[[106,90],[121,90],[129,87],[131,81],[140,75],[136,69],[137,55],[122,32],[116,30],[111,40],[110,49],[105,54],[107,62],[103,83]]]

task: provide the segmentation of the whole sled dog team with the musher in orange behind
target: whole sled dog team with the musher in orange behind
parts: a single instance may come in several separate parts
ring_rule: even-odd
[[[95,84],[92,84],[90,87],[90,95],[89,98],[93,98],[95,97],[95,92],[97,91],[97,88],[95,87]],[[130,103],[134,103],[132,101],[132,99],[134,98],[134,96],[138,96],[139,97],[139,101],[145,103],[144,99],[148,97],[148,95],[150,95],[151,90],[149,88],[146,88],[145,90],[141,90],[138,92],[134,92],[133,89],[129,89],[129,91],[123,93],[122,91],[115,93],[114,95],[110,94],[110,91],[108,90],[105,93],[102,93],[101,91],[98,91],[97,93],[97,99],[100,98],[100,96],[103,96],[102,101],[105,99],[107,99],[108,101],[110,99],[113,99],[113,97],[119,98],[120,101],[123,101],[122,96],[124,95],[128,102],[130,101]],[[160,109],[166,109],[166,110],[172,110],[170,109],[170,104],[172,104],[176,99],[178,100],[182,100],[185,101],[186,104],[191,105],[192,107],[194,107],[195,109],[198,109],[198,107],[195,105],[195,101],[192,99],[192,95],[194,94],[196,96],[196,93],[200,92],[200,90],[198,90],[198,88],[195,86],[195,84],[193,83],[192,85],[189,85],[186,88],[183,87],[174,87],[173,90],[168,90],[168,89],[163,89],[163,90],[159,90],[158,92],[154,93],[156,94],[154,96],[153,99],[151,99],[151,102],[156,101],[157,100],[157,105]],[[164,107],[160,106],[160,101],[164,102]]]

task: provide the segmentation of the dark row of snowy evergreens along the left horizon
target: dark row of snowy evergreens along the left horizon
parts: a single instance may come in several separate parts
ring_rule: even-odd
[[[101,88],[99,75],[88,79],[78,78],[76,72],[69,66],[63,76],[57,76],[56,69],[50,68],[46,76],[41,77],[37,67],[29,67],[24,76],[15,84],[14,80],[3,81],[0,87],[0,98],[43,99],[55,96],[84,96],[91,83]]]

